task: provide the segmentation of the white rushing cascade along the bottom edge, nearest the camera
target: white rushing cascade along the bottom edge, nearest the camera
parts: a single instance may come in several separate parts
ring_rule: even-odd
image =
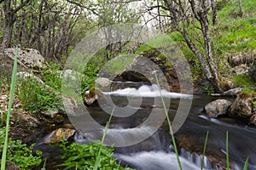
[[[142,151],[130,155],[114,154],[123,164],[140,170],[177,170],[177,156],[174,152]],[[183,169],[198,170],[201,169],[201,156],[191,154],[182,150],[180,161]],[[221,170],[220,167],[213,167],[205,157],[205,170]]]

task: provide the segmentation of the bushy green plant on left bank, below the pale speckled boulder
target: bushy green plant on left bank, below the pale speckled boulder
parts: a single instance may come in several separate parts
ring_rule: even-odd
[[[32,113],[63,108],[61,97],[33,77],[27,77],[26,80],[20,82],[18,91],[22,106]]]

